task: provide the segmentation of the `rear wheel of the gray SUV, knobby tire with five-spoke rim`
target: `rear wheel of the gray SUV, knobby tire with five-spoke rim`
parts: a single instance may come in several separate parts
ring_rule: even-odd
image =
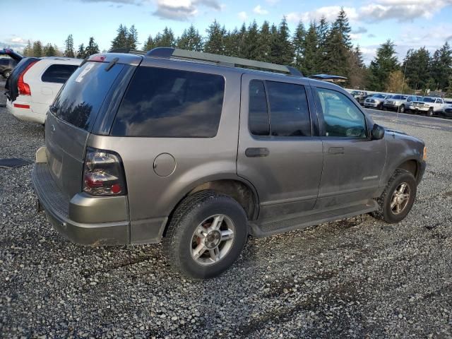
[[[200,191],[174,211],[163,250],[169,264],[182,275],[213,278],[237,260],[247,236],[246,213],[237,201]]]

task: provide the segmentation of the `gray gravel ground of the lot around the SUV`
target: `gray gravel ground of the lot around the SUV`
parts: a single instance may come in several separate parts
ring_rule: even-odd
[[[452,338],[452,121],[375,114],[427,143],[408,218],[249,239],[203,282],[170,270],[160,245],[72,244],[35,213],[32,165],[0,169],[0,337]],[[0,131],[0,157],[33,159],[44,142],[5,108]]]

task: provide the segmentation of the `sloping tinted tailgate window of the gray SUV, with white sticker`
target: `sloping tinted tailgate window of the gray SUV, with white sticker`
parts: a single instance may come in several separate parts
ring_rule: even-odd
[[[87,62],[77,69],[54,101],[59,119],[89,131],[112,83],[124,64],[105,71],[107,64]]]

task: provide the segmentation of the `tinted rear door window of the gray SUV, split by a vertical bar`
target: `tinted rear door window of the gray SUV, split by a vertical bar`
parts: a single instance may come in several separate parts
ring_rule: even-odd
[[[251,81],[249,86],[251,134],[311,136],[311,119],[304,86],[275,81],[265,81],[265,86],[263,84],[263,81]]]

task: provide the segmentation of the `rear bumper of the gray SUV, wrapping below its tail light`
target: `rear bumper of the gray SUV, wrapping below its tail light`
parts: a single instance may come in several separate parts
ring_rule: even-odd
[[[44,209],[52,227],[72,242],[90,246],[130,244],[129,220],[115,220],[122,214],[122,211],[117,208],[121,205],[119,199],[113,203],[112,201],[104,203],[105,198],[82,193],[76,194],[69,201],[54,182],[47,163],[35,164],[32,171],[32,184],[40,206]],[[126,203],[124,196],[108,198],[124,198]],[[124,213],[126,213],[125,210]],[[99,218],[99,215],[103,219],[114,221],[90,222]]]

